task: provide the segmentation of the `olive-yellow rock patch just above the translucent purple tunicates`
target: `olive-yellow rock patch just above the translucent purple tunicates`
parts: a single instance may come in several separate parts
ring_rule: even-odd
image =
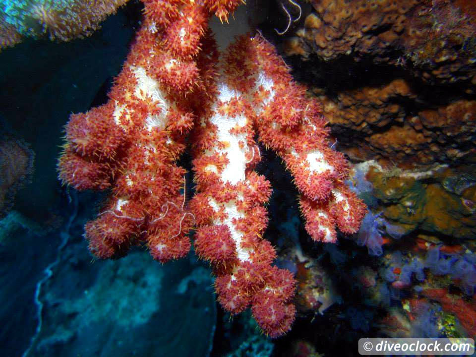
[[[427,171],[392,172],[375,162],[360,167],[365,165],[370,168],[366,179],[373,185],[372,194],[381,203],[382,215],[391,223],[392,230],[400,227],[405,235],[422,230],[426,235],[460,239],[476,236],[476,218],[464,204],[476,200],[476,191],[470,187],[461,197],[448,192],[443,184],[447,177],[462,172],[461,169],[439,166]]]

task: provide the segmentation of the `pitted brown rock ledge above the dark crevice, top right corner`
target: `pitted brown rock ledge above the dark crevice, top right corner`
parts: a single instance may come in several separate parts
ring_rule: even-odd
[[[286,43],[288,55],[367,57],[429,82],[476,83],[476,6],[470,1],[311,2],[304,27]]]

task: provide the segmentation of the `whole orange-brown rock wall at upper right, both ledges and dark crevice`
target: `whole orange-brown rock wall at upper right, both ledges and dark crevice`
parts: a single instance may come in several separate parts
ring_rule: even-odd
[[[311,1],[285,52],[353,160],[401,168],[474,163],[476,6]],[[294,60],[296,60],[295,58]]]

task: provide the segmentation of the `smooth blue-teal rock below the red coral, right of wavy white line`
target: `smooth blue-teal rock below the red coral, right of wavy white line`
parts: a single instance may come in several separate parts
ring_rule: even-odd
[[[85,256],[65,260],[45,287],[32,356],[208,356],[216,322],[208,269],[160,265],[138,251],[93,265]]]

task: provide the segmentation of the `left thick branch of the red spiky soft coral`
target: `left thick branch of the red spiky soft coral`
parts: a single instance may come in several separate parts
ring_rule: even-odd
[[[157,11],[148,5],[157,6],[146,3],[149,15],[110,100],[70,117],[59,171],[60,179],[76,189],[112,189],[98,218],[86,225],[96,256],[118,257],[131,245],[146,242],[152,256],[165,262],[190,249],[186,233],[193,217],[184,210],[180,193],[185,170],[175,162],[185,149],[183,134],[194,119],[186,93],[205,93],[213,73],[209,57],[216,51],[210,36],[204,36],[208,12],[202,4],[176,5],[200,22],[192,22],[189,37],[176,38],[173,44],[175,27],[155,18]],[[188,40],[204,51],[190,52]]]

